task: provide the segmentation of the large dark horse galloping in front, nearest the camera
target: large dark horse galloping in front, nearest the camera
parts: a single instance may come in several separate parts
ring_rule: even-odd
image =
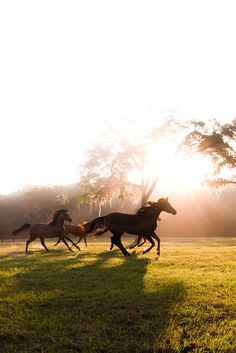
[[[111,249],[116,245],[123,253],[124,256],[129,256],[130,253],[124,248],[121,243],[121,237],[126,232],[146,238],[151,246],[143,251],[143,254],[150,251],[155,242],[152,238],[157,240],[157,254],[160,255],[160,238],[155,233],[157,226],[157,219],[160,213],[164,211],[176,215],[177,211],[171,206],[168,198],[161,198],[157,202],[147,202],[141,207],[136,214],[126,214],[114,212],[107,216],[95,218],[90,223],[84,225],[88,233],[103,228],[100,234],[110,231],[113,236],[111,237]]]

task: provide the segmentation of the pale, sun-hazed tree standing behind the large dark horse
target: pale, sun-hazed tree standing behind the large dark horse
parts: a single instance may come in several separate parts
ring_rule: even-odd
[[[173,139],[180,126],[179,122],[169,117],[156,128],[149,129],[135,139],[124,138],[111,129],[102,143],[97,143],[87,151],[87,161],[83,165],[80,183],[84,187],[85,199],[104,203],[113,197],[122,201],[132,197],[140,204],[150,199],[157,186],[159,172],[147,174],[148,152],[158,139]],[[134,127],[135,131],[135,127]],[[134,133],[133,133],[134,135]],[[158,155],[165,151],[157,150]]]

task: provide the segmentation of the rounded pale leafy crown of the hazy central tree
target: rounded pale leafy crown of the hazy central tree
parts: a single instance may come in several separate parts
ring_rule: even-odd
[[[102,202],[114,194],[123,200],[130,189],[139,188],[137,183],[128,181],[128,174],[141,168],[140,157],[143,154],[138,153],[138,150],[142,147],[135,147],[115,142],[111,146],[108,141],[105,146],[96,146],[88,151],[82,180],[90,194],[93,193],[93,200]]]

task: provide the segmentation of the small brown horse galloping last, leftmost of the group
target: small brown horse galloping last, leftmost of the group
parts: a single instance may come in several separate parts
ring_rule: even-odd
[[[28,252],[29,244],[34,241],[36,238],[40,239],[41,244],[43,247],[49,251],[46,247],[44,238],[54,238],[59,237],[60,240],[67,246],[70,251],[73,251],[69,245],[67,244],[67,240],[69,240],[78,250],[80,248],[65,234],[64,232],[64,221],[71,222],[72,219],[68,214],[68,210],[61,209],[57,210],[54,215],[52,221],[49,223],[37,223],[37,224],[29,224],[25,223],[21,227],[13,230],[12,234],[16,235],[23,231],[24,229],[29,229],[30,238],[26,241],[26,248],[25,251]]]

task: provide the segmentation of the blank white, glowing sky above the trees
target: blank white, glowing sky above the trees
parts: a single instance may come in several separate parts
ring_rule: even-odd
[[[78,180],[104,121],[236,116],[235,1],[0,2],[0,193]]]

